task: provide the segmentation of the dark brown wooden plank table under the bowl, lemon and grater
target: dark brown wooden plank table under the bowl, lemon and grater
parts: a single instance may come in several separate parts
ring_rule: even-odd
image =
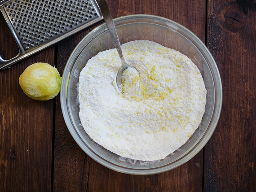
[[[60,74],[79,41],[93,29],[0,72],[0,192],[255,192],[256,3],[254,0],[108,0],[113,17],[152,14],[194,32],[221,74],[223,104],[209,142],[184,165],[158,175],[126,175],[88,157],[64,122],[60,96],[36,101],[18,78],[35,62]],[[0,17],[0,52],[18,53]]]

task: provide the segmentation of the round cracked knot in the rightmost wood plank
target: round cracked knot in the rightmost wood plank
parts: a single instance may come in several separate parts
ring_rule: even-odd
[[[230,28],[239,28],[243,26],[244,14],[239,6],[230,7],[224,14],[225,22]]]

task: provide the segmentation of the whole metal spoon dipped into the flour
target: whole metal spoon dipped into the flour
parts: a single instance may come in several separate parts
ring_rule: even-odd
[[[114,25],[114,22],[113,22],[113,19],[112,19],[112,16],[111,16],[111,13],[110,13],[110,10],[109,10],[106,0],[97,0],[97,3],[101,9],[102,15],[103,15],[104,20],[107,25],[107,28],[110,32],[111,38],[115,44],[115,48],[117,49],[117,52],[118,52],[120,60],[121,60],[121,68],[119,69],[119,71],[117,73],[115,82],[116,82],[120,92],[122,92],[122,86],[121,86],[122,85],[122,73],[126,68],[132,67],[132,66],[128,65],[125,62],[124,55],[123,55],[123,52],[122,52],[122,49],[120,46],[120,42],[119,42],[116,30],[115,30],[115,25]],[[135,67],[132,67],[132,68],[136,69]]]

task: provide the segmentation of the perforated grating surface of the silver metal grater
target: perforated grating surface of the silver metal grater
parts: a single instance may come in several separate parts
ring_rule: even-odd
[[[92,0],[11,0],[3,7],[26,52],[100,17]]]

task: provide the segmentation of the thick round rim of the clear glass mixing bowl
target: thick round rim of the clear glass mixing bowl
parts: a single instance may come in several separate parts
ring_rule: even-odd
[[[166,19],[164,17],[159,16],[153,16],[153,15],[146,15],[146,14],[137,14],[137,15],[128,15],[124,17],[118,17],[114,19],[115,25],[124,23],[124,22],[136,22],[136,21],[143,21],[148,23],[153,23],[155,25],[165,25],[165,26],[172,26],[174,29],[177,28],[177,31],[182,31],[182,33],[186,34],[187,36],[190,36],[190,41],[198,48],[201,52],[204,53],[205,60],[207,61],[207,65],[210,62],[211,65],[208,65],[208,67],[211,70],[211,74],[213,77],[213,84],[214,84],[214,109],[212,113],[212,119],[209,123],[209,126],[206,128],[206,131],[204,134],[200,137],[201,139],[198,140],[194,147],[191,148],[190,151],[186,152],[184,155],[181,156],[176,161],[172,161],[171,163],[168,163],[164,166],[154,167],[154,168],[127,168],[124,166],[119,166],[117,164],[113,164],[110,161],[106,161],[104,157],[101,157],[99,153],[94,151],[92,148],[87,148],[84,146],[83,142],[81,142],[81,137],[78,133],[78,130],[73,125],[73,122],[71,121],[70,117],[70,111],[68,109],[68,103],[67,103],[67,92],[68,92],[68,85],[69,85],[69,75],[70,71],[72,70],[72,67],[74,66],[74,63],[77,58],[79,58],[79,55],[83,51],[83,49],[94,39],[95,34],[104,31],[107,31],[106,23],[103,23],[100,26],[97,26],[94,28],[91,32],[89,32],[75,47],[74,51],[71,53],[71,56],[69,57],[65,69],[62,74],[62,83],[61,83],[61,91],[60,91],[60,98],[61,98],[61,108],[62,108],[62,114],[64,117],[64,120],[66,122],[66,125],[76,141],[76,143],[79,145],[82,150],[86,154],[88,154],[90,157],[92,157],[95,161],[102,164],[103,166],[106,166],[112,170],[119,171],[125,174],[132,174],[132,175],[152,175],[152,174],[158,174],[162,173],[168,170],[172,170],[178,166],[181,166],[185,162],[189,161],[191,158],[193,158],[199,151],[207,144],[208,140],[211,138],[217,122],[219,120],[220,114],[221,114],[221,105],[222,105],[222,85],[221,85],[221,77],[219,74],[219,71],[217,69],[216,62],[214,61],[211,53],[203,44],[203,42],[196,36],[194,33],[192,33],[190,30],[185,28],[184,26],[181,26],[177,22],[173,22],[172,20]],[[86,46],[84,46],[86,45]],[[218,86],[216,86],[218,85]]]

